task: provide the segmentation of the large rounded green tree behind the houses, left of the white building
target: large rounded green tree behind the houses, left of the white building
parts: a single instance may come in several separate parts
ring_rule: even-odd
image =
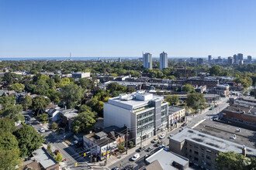
[[[74,107],[83,97],[83,89],[76,84],[67,84],[61,89],[61,98],[67,108]]]

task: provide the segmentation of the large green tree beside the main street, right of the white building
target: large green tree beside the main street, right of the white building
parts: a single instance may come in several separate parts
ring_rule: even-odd
[[[198,110],[206,103],[206,98],[202,93],[189,93],[186,102],[189,107]]]

